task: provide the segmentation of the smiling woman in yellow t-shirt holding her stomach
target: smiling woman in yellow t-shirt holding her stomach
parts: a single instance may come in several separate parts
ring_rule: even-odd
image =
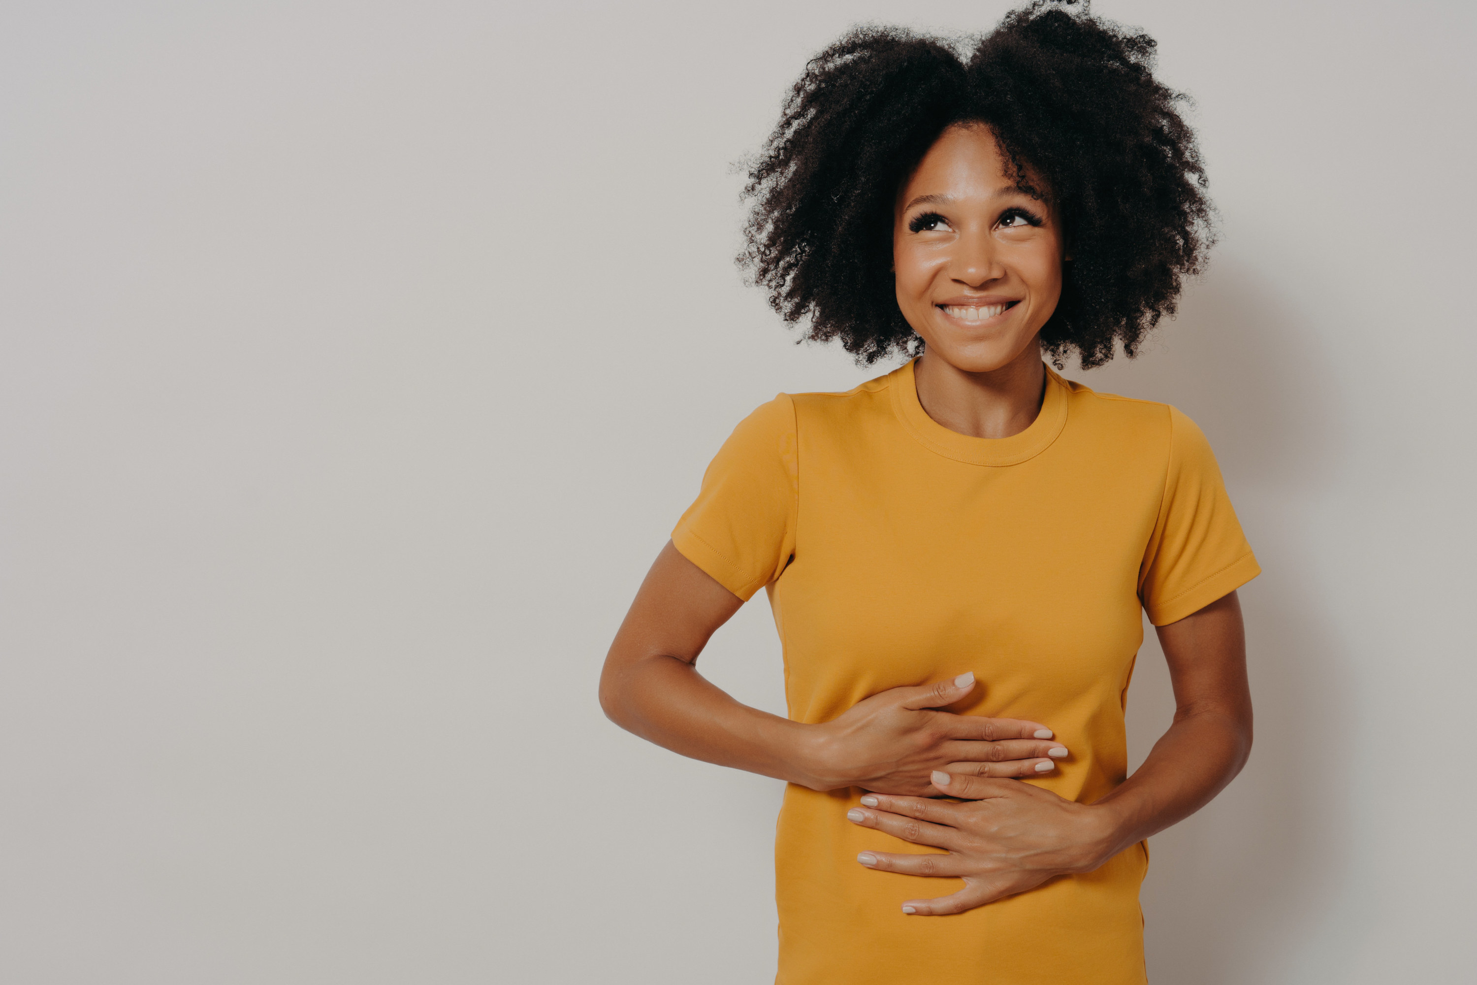
[[[1043,362],[1133,356],[1210,241],[1154,41],[1063,6],[809,64],[744,260],[809,338],[911,359],[738,424],[606,662],[622,727],[790,783],[783,984],[1143,982],[1145,839],[1251,747],[1260,569],[1204,434]],[[694,669],[761,586],[787,719]],[[1179,710],[1125,777],[1140,608]]]

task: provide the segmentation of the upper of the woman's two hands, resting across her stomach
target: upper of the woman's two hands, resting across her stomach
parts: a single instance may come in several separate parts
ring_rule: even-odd
[[[945,796],[929,780],[941,769],[972,777],[1040,777],[1066,756],[1052,730],[1016,718],[954,715],[938,709],[975,690],[975,675],[873,694],[839,718],[812,725],[817,789]]]

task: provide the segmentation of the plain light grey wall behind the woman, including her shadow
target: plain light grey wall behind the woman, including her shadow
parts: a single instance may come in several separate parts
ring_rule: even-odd
[[[0,6],[0,979],[770,981],[780,784],[595,676],[728,430],[891,368],[740,284],[730,164],[848,25],[1004,9]],[[1097,10],[1224,239],[1066,375],[1195,418],[1266,570],[1151,973],[1470,981],[1473,7]],[[783,709],[762,595],[703,662]]]

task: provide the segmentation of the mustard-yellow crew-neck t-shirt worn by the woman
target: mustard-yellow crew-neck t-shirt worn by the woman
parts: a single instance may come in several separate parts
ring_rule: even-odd
[[[1044,722],[1071,750],[1024,783],[1093,802],[1128,768],[1140,605],[1171,623],[1261,569],[1193,421],[1046,374],[1037,419],[1006,439],[929,418],[911,362],[848,393],[780,394],[724,443],[672,540],[740,598],[768,588],[792,719],[973,670],[966,713]],[[1145,981],[1145,845],[911,917],[904,899],[962,883],[860,865],[866,849],[936,851],[851,824],[861,793],[786,787],[777,985]]]

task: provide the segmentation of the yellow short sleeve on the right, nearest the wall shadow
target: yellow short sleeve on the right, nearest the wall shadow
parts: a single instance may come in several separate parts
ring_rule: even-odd
[[[1170,408],[1164,498],[1139,569],[1149,622],[1185,619],[1260,573],[1205,433]]]

